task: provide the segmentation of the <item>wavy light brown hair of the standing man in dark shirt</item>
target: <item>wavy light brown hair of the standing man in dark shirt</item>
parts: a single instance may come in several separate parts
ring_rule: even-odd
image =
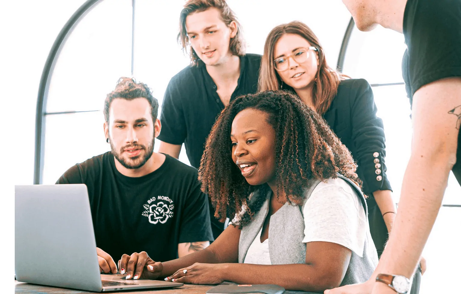
[[[237,33],[235,37],[231,38],[231,42],[229,43],[229,50],[232,52],[232,55],[242,56],[245,54],[242,25],[225,0],[188,0],[186,4],[184,4],[184,8],[179,17],[179,34],[177,35],[177,41],[183,47],[184,52],[190,51],[190,63],[192,65],[198,65],[199,57],[192,46],[190,46],[186,29],[186,18],[191,13],[202,12],[212,7],[219,9],[221,12],[221,20],[227,26],[229,26],[231,22],[235,22],[237,25]]]

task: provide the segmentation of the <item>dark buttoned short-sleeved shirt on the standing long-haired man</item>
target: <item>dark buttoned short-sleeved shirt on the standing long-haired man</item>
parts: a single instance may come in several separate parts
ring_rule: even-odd
[[[246,54],[240,57],[240,76],[231,100],[258,90],[261,55]],[[173,76],[163,99],[160,121],[162,130],[157,137],[170,144],[186,147],[189,162],[199,168],[205,142],[224,104],[216,93],[217,87],[202,61],[198,66],[188,66]],[[214,208],[209,200],[211,227],[214,238],[224,230],[224,224],[214,218]]]

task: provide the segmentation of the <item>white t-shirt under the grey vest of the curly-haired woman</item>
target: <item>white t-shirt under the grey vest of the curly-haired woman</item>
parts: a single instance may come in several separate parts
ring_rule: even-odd
[[[303,243],[336,243],[349,248],[360,257],[363,257],[365,239],[368,238],[369,243],[373,244],[361,200],[341,178],[320,182],[306,201],[303,215]],[[261,230],[248,248],[244,263],[271,264],[269,239],[261,243]]]

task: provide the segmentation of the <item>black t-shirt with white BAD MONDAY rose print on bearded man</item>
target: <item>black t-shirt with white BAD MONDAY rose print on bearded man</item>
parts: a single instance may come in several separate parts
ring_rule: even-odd
[[[56,183],[86,184],[96,246],[115,262],[141,251],[167,261],[177,258],[178,243],[213,241],[197,170],[169,155],[150,174],[129,177],[107,152],[72,166]]]

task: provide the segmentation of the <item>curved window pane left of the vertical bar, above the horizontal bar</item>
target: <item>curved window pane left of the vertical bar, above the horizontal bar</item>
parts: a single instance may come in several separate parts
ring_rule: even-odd
[[[69,35],[56,60],[47,112],[99,110],[131,74],[131,0],[101,1]]]

